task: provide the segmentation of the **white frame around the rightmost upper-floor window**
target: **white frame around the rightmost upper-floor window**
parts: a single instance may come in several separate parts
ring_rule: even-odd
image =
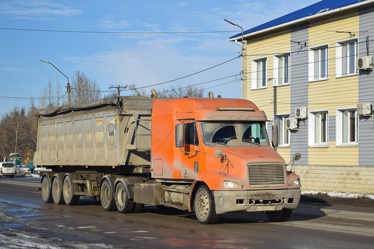
[[[347,68],[346,68],[346,74],[343,75],[343,43],[350,43],[352,41],[355,41],[355,60],[353,62],[353,66],[354,66],[354,72],[353,73],[349,73],[349,53],[350,53],[350,47],[347,46]],[[336,45],[336,78],[339,78],[339,77],[347,77],[347,76],[352,76],[352,75],[357,75],[358,74],[358,70],[357,70],[357,63],[356,63],[356,58],[358,57],[358,37],[355,37],[355,38],[349,38],[349,39],[345,39],[345,40],[340,40],[340,41],[337,41],[335,43]],[[344,56],[345,57],[345,56]]]

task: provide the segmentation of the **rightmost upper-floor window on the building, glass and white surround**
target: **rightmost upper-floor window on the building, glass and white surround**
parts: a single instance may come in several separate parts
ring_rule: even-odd
[[[337,77],[357,74],[356,58],[358,56],[357,39],[336,43],[336,74]]]

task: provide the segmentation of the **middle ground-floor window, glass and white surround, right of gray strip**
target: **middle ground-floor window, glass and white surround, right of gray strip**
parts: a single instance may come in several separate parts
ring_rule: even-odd
[[[328,146],[328,111],[310,112],[309,146]]]

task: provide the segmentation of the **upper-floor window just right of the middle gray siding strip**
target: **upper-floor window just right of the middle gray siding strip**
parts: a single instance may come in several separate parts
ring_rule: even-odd
[[[328,79],[328,48],[309,50],[309,81]]]

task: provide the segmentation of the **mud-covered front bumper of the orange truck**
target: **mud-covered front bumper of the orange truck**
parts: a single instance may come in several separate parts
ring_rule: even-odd
[[[217,214],[228,212],[294,210],[300,202],[300,189],[213,190]]]

